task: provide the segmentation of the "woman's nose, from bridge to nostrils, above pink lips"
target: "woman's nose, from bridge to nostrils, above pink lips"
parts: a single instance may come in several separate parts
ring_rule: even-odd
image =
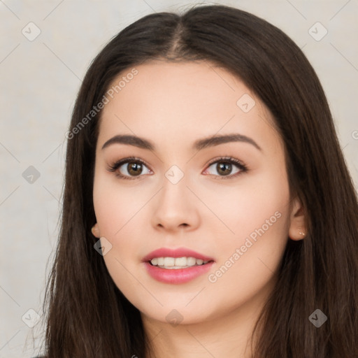
[[[199,199],[184,178],[173,184],[167,178],[153,202],[152,225],[166,231],[192,231],[199,226]]]

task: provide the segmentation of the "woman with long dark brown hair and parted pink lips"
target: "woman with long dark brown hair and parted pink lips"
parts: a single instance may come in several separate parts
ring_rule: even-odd
[[[94,59],[67,134],[55,357],[357,357],[357,196],[301,50],[227,6]]]

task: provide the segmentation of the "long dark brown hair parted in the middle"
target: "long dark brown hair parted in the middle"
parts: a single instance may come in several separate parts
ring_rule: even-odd
[[[271,110],[285,143],[290,192],[303,203],[308,234],[287,238],[278,284],[257,322],[254,357],[358,357],[357,194],[327,99],[287,35],[229,6],[147,15],[120,31],[88,69],[69,129],[62,224],[44,303],[46,355],[146,357],[150,350],[138,309],[94,250],[101,112],[80,122],[119,73],[153,59],[207,60],[239,76]],[[319,328],[308,319],[316,309],[327,316]]]

